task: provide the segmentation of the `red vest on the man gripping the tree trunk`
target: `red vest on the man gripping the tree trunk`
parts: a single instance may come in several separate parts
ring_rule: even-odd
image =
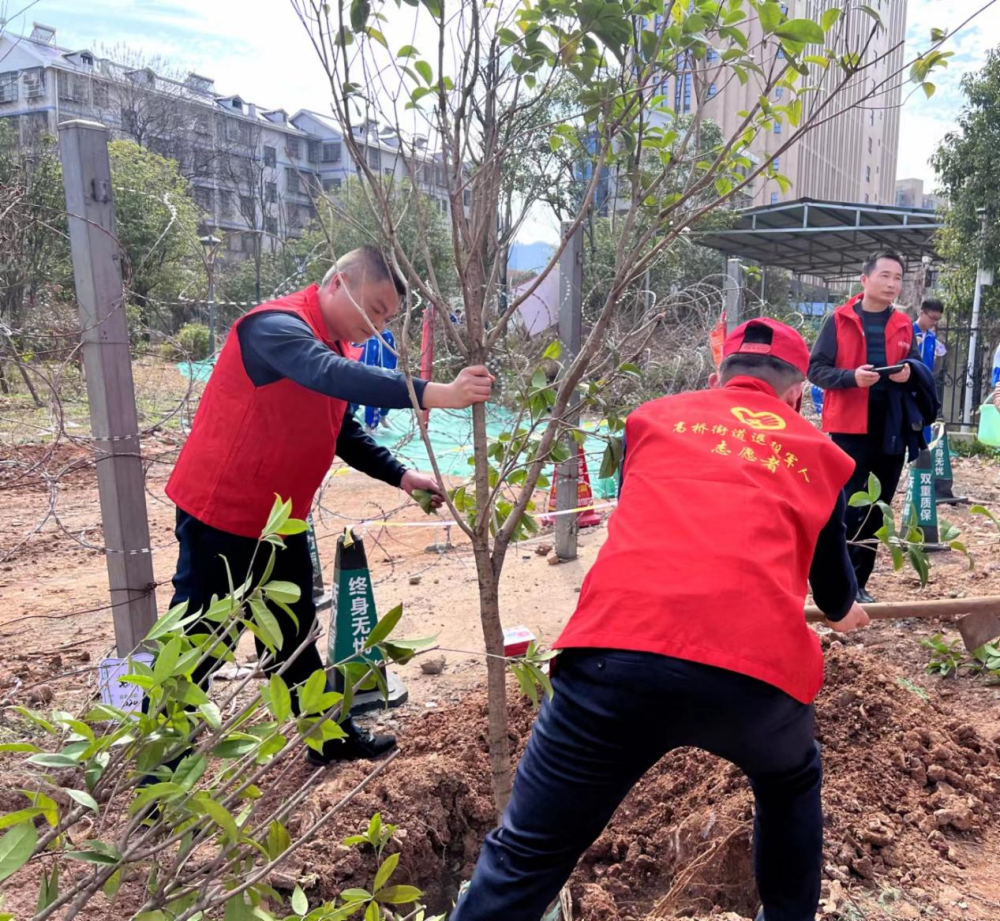
[[[344,400],[287,378],[254,386],[236,331],[265,310],[302,317],[326,346],[354,357],[349,345],[330,339],[316,285],[261,304],[233,324],[166,491],[199,521],[243,537],[260,537],[275,494],[292,500],[294,517],[309,514],[347,410]]]

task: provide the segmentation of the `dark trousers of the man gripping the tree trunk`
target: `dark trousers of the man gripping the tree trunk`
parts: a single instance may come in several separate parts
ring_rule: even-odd
[[[188,603],[188,611],[198,609],[208,610],[212,596],[223,598],[229,594],[229,578],[226,573],[226,562],[232,572],[233,583],[242,584],[250,571],[253,561],[254,580],[264,573],[264,568],[270,557],[271,548],[268,544],[261,545],[256,558],[254,550],[257,541],[250,537],[240,537],[228,534],[192,517],[187,512],[177,509],[177,542],[180,554],[177,559],[177,573],[174,576],[174,597],[171,607],[183,601]],[[271,613],[278,621],[284,643],[281,649],[272,657],[268,671],[277,671],[286,659],[295,652],[302,641],[309,635],[316,622],[316,605],[312,598],[313,567],[309,555],[309,545],[305,534],[293,534],[284,538],[285,548],[275,550],[274,570],[272,580],[292,582],[299,586],[302,595],[295,604],[289,605],[298,618],[298,627],[281,608],[269,605]],[[189,624],[188,633],[213,632],[218,624],[206,621]],[[256,639],[256,638],[255,638]],[[256,640],[257,654],[263,655],[266,647]],[[204,683],[215,671],[220,661],[207,659],[196,670],[193,678]],[[282,673],[289,687],[304,682],[314,671],[323,668],[316,644],[307,646]],[[292,706],[298,712],[298,695],[292,694]]]

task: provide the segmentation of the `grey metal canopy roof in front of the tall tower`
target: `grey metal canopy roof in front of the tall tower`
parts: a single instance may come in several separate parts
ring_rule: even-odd
[[[738,212],[727,230],[692,232],[693,242],[761,265],[827,281],[857,277],[877,250],[908,262],[934,256],[942,226],[935,211],[896,205],[858,205],[800,198]]]

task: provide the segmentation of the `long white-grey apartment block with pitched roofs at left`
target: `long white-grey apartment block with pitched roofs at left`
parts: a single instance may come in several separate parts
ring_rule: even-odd
[[[25,145],[57,136],[61,122],[92,119],[175,160],[206,226],[224,232],[237,258],[300,234],[316,217],[316,199],[360,172],[330,116],[304,109],[289,115],[223,95],[200,74],[171,79],[63,48],[56,30],[40,23],[26,37],[0,35],[0,118],[15,121]],[[374,169],[415,173],[447,212],[441,161],[425,139],[408,140],[404,154],[395,133],[378,125],[359,127],[356,137]]]

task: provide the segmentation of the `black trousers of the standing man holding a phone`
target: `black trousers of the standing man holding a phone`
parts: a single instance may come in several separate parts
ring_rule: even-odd
[[[899,478],[903,473],[903,461],[906,455],[905,453],[885,453],[885,409],[874,400],[869,401],[868,404],[868,432],[867,435],[832,434],[830,436],[838,448],[854,458],[856,464],[854,473],[844,490],[848,499],[856,492],[867,491],[868,475],[874,473],[878,477],[879,483],[882,484],[882,501],[891,503],[899,486]],[[874,538],[875,532],[882,527],[882,513],[877,508],[851,508],[848,506],[844,521],[847,525],[847,539],[849,541],[871,540]],[[868,584],[868,578],[875,568],[877,549],[875,544],[867,546],[851,544],[849,547],[854,573],[858,577],[859,589]]]

